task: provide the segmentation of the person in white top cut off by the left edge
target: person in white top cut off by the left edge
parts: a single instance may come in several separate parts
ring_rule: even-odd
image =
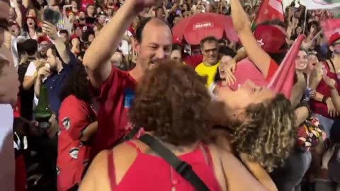
[[[8,30],[9,1],[0,1],[0,190],[14,190],[15,161],[13,149],[13,110],[18,95],[18,74],[11,52],[3,46]]]

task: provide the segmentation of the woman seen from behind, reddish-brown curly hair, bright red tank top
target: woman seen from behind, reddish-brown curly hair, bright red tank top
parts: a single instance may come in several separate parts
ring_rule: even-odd
[[[208,190],[266,190],[232,153],[210,142],[210,96],[190,66],[160,62],[141,84],[129,110],[131,122],[190,164]],[[79,190],[195,190],[141,140],[101,151]]]

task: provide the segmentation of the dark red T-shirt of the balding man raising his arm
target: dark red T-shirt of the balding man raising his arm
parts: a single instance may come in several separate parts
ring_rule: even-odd
[[[98,96],[98,130],[91,145],[90,161],[103,149],[110,149],[132,128],[128,124],[128,109],[135,97],[137,82],[127,71],[112,67],[108,79],[101,89],[95,92]]]

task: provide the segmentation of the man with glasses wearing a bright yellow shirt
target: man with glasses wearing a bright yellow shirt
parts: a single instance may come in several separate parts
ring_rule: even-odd
[[[203,54],[203,62],[196,66],[195,71],[200,76],[207,76],[207,83],[205,86],[208,88],[214,81],[217,67],[220,65],[218,59],[218,40],[215,37],[208,36],[200,41],[200,51]]]

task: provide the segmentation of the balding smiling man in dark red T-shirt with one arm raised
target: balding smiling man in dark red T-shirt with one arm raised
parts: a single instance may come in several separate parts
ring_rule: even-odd
[[[100,103],[98,131],[91,146],[90,161],[99,151],[117,144],[132,129],[127,114],[135,86],[145,71],[170,57],[172,37],[169,26],[157,18],[149,18],[136,29],[134,48],[138,58],[135,68],[120,71],[110,63],[132,21],[143,8],[153,4],[154,0],[125,1],[84,55],[83,64]]]

